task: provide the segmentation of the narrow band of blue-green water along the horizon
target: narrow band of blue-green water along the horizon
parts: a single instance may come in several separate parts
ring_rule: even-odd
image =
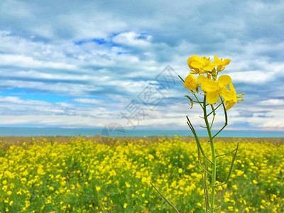
[[[207,136],[207,131],[197,131],[198,136]],[[214,134],[214,131],[213,131]],[[0,136],[193,136],[190,130],[161,129],[62,129],[62,128],[0,128]],[[284,131],[229,131],[221,137],[236,138],[284,138]]]

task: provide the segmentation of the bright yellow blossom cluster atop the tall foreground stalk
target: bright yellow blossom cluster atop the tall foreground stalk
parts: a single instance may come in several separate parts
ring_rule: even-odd
[[[206,100],[208,104],[215,104],[219,102],[219,97],[224,99],[224,104],[226,104],[226,110],[243,101],[241,94],[236,94],[236,89],[234,89],[231,83],[231,77],[229,75],[222,75],[218,77],[219,72],[222,72],[226,65],[229,65],[231,60],[229,59],[219,59],[214,55],[214,61],[211,62],[210,58],[203,57],[200,58],[197,55],[192,55],[188,58],[187,64],[190,67],[190,74],[185,78],[185,88],[190,89],[192,92],[199,92],[199,87],[206,95]],[[194,75],[198,75],[196,78]]]

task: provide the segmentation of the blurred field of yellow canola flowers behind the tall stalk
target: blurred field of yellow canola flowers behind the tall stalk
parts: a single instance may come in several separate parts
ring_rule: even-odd
[[[202,142],[209,153],[209,143]],[[216,142],[217,153],[236,143]],[[218,158],[226,179],[232,155]],[[216,212],[284,212],[284,145],[240,141],[232,176],[217,189]],[[45,138],[0,148],[0,212],[204,212],[195,141],[160,138],[102,144]]]

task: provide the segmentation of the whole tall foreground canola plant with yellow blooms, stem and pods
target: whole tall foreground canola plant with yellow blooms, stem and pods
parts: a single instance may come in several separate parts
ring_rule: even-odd
[[[200,116],[200,118],[203,119],[205,123],[205,125],[201,127],[207,129],[208,133],[211,148],[210,158],[206,153],[204,153],[204,149],[202,148],[202,144],[200,143],[195,128],[192,125],[189,117],[186,116],[187,125],[192,131],[193,136],[195,136],[195,141],[197,143],[198,163],[200,165],[200,168],[202,169],[202,182],[204,187],[206,213],[214,213],[216,187],[222,186],[229,181],[231,172],[233,170],[234,161],[236,159],[236,153],[239,148],[238,142],[236,148],[233,151],[217,155],[214,144],[214,138],[218,136],[218,134],[228,125],[227,111],[231,109],[234,104],[244,100],[242,97],[244,93],[236,94],[236,90],[231,83],[232,80],[229,75],[221,75],[218,77],[219,73],[225,69],[226,65],[229,65],[229,62],[231,62],[231,60],[219,59],[216,55],[214,55],[213,62],[211,62],[210,58],[206,58],[205,56],[203,58],[200,58],[197,55],[193,55],[187,60],[187,64],[191,69],[190,74],[187,75],[185,80],[183,80],[182,77],[178,76],[184,83],[185,88],[190,90],[189,94],[185,95],[185,97],[190,100],[190,109],[192,109],[193,104],[195,103],[197,105],[200,105],[203,113],[203,116]],[[198,75],[197,78],[194,75]],[[203,101],[200,101],[200,96],[203,97]],[[216,107],[215,104],[217,105]],[[207,114],[207,107],[209,105],[211,107],[211,111]],[[224,111],[224,126],[222,126],[222,128],[213,135],[212,129],[214,126],[215,116],[217,114],[217,109],[219,109],[219,107],[221,106],[223,107]],[[209,121],[209,116],[211,115],[212,119]],[[231,160],[231,165],[229,168],[229,173],[226,176],[226,180],[221,184],[216,185],[217,167],[219,166],[217,165],[217,158],[222,158],[232,153],[234,153],[234,156]],[[204,159],[203,162],[205,165],[202,165],[202,158]],[[211,168],[211,171],[208,170],[208,167]],[[207,182],[209,178],[211,178],[211,182],[208,185]],[[151,183],[151,185],[153,184]],[[210,190],[209,187],[211,188]],[[165,196],[163,196],[156,188],[155,190],[163,197],[166,202],[170,204],[171,207],[173,207],[173,209],[175,209],[176,212],[178,212],[178,209],[172,203],[166,200]]]

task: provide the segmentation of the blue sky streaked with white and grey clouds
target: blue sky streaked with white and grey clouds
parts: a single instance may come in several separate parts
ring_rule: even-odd
[[[0,1],[0,126],[199,129],[178,75],[231,59],[231,130],[284,131],[284,1]],[[214,129],[224,124],[217,112]]]

